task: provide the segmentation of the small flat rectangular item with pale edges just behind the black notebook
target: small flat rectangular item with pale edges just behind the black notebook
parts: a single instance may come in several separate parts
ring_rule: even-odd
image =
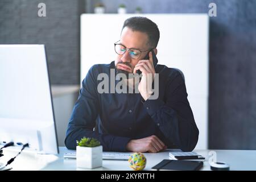
[[[169,152],[169,157],[172,160],[200,160],[204,161],[204,157],[196,152]]]

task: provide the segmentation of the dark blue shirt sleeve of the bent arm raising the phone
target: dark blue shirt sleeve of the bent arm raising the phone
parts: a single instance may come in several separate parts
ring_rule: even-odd
[[[183,151],[192,151],[198,140],[199,130],[187,99],[185,82],[179,72],[168,81],[166,99],[143,102],[147,113],[164,136]]]

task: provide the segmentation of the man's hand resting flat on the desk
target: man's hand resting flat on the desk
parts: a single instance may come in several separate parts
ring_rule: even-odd
[[[159,152],[166,149],[166,145],[155,135],[142,139],[130,140],[126,149],[131,152]]]

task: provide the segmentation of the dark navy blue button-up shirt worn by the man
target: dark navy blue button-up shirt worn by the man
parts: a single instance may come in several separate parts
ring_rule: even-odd
[[[156,135],[168,148],[195,148],[199,130],[179,71],[156,65],[159,97],[144,101],[139,93],[98,93],[97,86],[102,81],[97,80],[98,74],[110,77],[110,69],[115,69],[114,61],[93,65],[82,81],[68,124],[67,148],[76,149],[76,140],[93,137],[100,140],[104,151],[126,151],[131,139],[151,135]]]

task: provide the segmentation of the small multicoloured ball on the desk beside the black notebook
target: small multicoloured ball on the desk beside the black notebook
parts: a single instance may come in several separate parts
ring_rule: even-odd
[[[131,154],[129,160],[129,167],[135,171],[139,171],[145,168],[146,158],[141,152],[135,152]]]

